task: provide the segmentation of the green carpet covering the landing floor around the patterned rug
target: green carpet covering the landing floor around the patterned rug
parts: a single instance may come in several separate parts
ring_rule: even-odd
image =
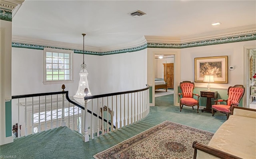
[[[93,159],[93,155],[104,151],[130,137],[144,132],[166,120],[216,132],[226,121],[223,114],[196,113],[192,108],[173,106],[173,94],[156,98],[148,116],[136,124],[110,132],[84,143],[82,136],[67,127],[15,139],[14,143],[0,146],[0,155],[17,159]],[[192,146],[192,143],[191,143]]]

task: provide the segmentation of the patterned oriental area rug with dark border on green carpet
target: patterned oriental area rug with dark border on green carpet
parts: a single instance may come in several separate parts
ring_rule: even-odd
[[[94,155],[96,159],[192,159],[192,143],[208,144],[214,133],[165,121]]]

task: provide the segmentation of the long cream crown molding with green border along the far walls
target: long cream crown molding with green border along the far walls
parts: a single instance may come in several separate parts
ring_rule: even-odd
[[[133,41],[132,43],[126,43],[126,45],[119,45],[118,47],[106,47],[102,49],[99,47],[85,46],[84,53],[89,55],[111,55],[140,51],[146,48],[182,49],[188,47],[200,47],[206,45],[217,45],[223,43],[234,43],[251,40],[256,40],[256,24],[212,31],[209,33],[190,35],[180,38],[145,35],[137,41]],[[43,50],[44,47],[49,47],[54,49],[71,49],[74,50],[74,53],[83,53],[82,45],[48,41],[42,39],[32,39],[28,37],[18,37],[14,35],[12,36],[12,47],[40,50]]]

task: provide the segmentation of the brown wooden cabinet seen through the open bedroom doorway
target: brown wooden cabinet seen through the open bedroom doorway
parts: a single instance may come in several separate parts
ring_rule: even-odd
[[[167,88],[174,86],[174,65],[173,63],[163,63],[164,65],[164,80],[167,83]]]

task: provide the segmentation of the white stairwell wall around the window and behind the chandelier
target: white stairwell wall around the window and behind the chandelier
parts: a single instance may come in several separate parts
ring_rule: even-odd
[[[74,53],[74,83],[64,83],[76,94],[82,54]],[[85,55],[92,94],[146,87],[146,49],[114,55]],[[12,48],[12,95],[61,91],[62,84],[43,84],[43,50]]]

